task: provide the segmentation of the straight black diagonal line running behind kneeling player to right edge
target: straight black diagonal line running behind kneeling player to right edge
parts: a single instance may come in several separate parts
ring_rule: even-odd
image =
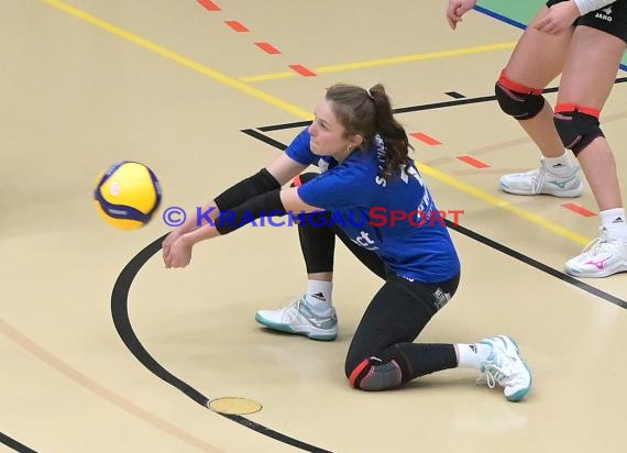
[[[627,77],[625,78],[625,80],[627,80]],[[480,99],[484,99],[484,98],[480,98]],[[443,103],[448,103],[448,102],[443,102]],[[417,106],[415,109],[418,109],[419,107],[420,106]],[[284,128],[284,129],[286,129],[286,128]],[[262,128],[257,128],[257,130],[261,131]],[[264,143],[271,144],[271,145],[273,145],[279,150],[285,150],[287,147],[285,144],[277,142],[274,139],[267,137],[264,134],[262,134],[261,132],[257,132],[257,131],[254,131],[251,129],[243,130],[242,132],[252,136],[252,137],[261,140]],[[468,236],[470,239],[473,239],[473,240],[475,240],[475,241],[477,241],[484,245],[487,245],[487,246],[490,246],[490,247],[492,247],[498,252],[502,252],[508,256],[512,256],[515,259],[518,259],[525,264],[528,264],[529,266],[532,266],[532,267],[537,268],[538,270],[541,270],[548,275],[551,275],[552,277],[559,278],[562,281],[565,281],[572,286],[575,286],[575,287],[578,287],[578,288],[580,288],[580,289],[582,289],[582,290],[584,290],[584,291],[586,291],[593,296],[596,296],[596,297],[604,299],[610,303],[614,303],[618,307],[627,309],[627,301],[625,301],[625,300],[623,300],[623,299],[620,299],[614,295],[610,295],[610,294],[605,292],[598,288],[595,288],[594,286],[591,286],[586,283],[581,281],[581,280],[578,280],[576,278],[571,277],[568,274],[564,274],[560,270],[557,270],[557,269],[552,268],[551,266],[548,266],[548,265],[546,265],[546,264],[543,264],[537,259],[534,259],[534,258],[531,258],[531,257],[529,257],[529,256],[527,256],[520,252],[517,252],[513,248],[509,248],[509,247],[507,247],[507,246],[505,246],[505,245],[503,245],[496,241],[493,241],[493,240],[491,240],[491,239],[488,239],[488,237],[486,237],[486,236],[484,236],[484,235],[482,235],[475,231],[472,231],[465,226],[462,226],[460,224],[453,224],[452,222],[450,222],[449,220],[446,220],[446,219],[444,219],[444,221],[447,222],[449,228],[451,228],[454,231],[458,231],[461,234],[464,234],[465,236]]]

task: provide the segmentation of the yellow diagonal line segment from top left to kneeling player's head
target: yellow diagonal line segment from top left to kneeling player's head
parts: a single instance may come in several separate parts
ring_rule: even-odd
[[[109,33],[112,33],[117,36],[120,36],[124,40],[128,40],[134,44],[138,44],[142,47],[147,48],[148,51],[152,51],[156,54],[160,54],[175,63],[178,63],[179,65],[186,66],[197,73],[200,73],[205,76],[208,76],[210,78],[212,78],[213,80],[217,80],[221,84],[228,85],[231,88],[235,88],[237,90],[240,90],[242,92],[245,92],[246,95],[250,95],[254,98],[257,98],[264,102],[267,102],[272,106],[278,107],[282,110],[286,110],[297,117],[301,117],[301,118],[306,118],[306,119],[312,119],[314,115],[306,111],[302,110],[299,107],[293,106],[290,103],[287,103],[285,101],[283,101],[282,99],[278,99],[272,95],[268,95],[260,89],[253,88],[249,85],[245,85],[243,82],[241,82],[240,80],[233,78],[233,77],[229,77],[224,74],[221,74],[215,69],[211,69],[207,66],[204,66],[199,63],[194,62],[193,59],[186,58],[182,55],[178,55],[165,47],[160,46],[158,44],[155,44],[144,37],[138,36],[134,33],[131,33],[127,30],[120,29],[109,22],[106,22],[101,19],[98,19],[82,10],[79,10],[78,8],[72,7],[67,3],[65,3],[62,0],[40,0],[40,1],[44,1],[45,3],[48,3],[51,7],[54,7],[58,10],[62,10],[68,14],[74,15],[75,18],[78,18],[85,22],[90,23],[91,25],[95,25],[99,29],[102,29]]]

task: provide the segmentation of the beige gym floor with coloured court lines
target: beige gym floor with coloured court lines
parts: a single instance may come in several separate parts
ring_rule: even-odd
[[[627,275],[562,273],[597,233],[590,189],[497,189],[538,164],[493,84],[540,2],[507,3],[482,2],[451,32],[443,0],[0,0],[0,448],[624,451]],[[603,121],[625,180],[622,68]],[[381,283],[342,246],[332,343],[254,322],[304,288],[294,229],[246,228],[164,269],[165,208],[194,210],[261,168],[338,81],[386,86],[440,209],[464,211],[452,232],[461,288],[420,340],[513,335],[535,378],[524,402],[465,371],[351,389],[344,355]],[[164,187],[139,231],[92,207],[97,175],[118,159],[147,164]],[[226,396],[263,408],[204,406]]]

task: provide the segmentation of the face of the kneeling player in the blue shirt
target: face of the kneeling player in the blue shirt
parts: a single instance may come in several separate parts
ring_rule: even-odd
[[[346,137],[346,130],[340,123],[331,108],[331,101],[322,99],[314,111],[316,119],[309,126],[311,141],[309,146],[319,156],[333,156],[343,161],[354,147],[352,140]],[[352,146],[349,147],[349,144]]]

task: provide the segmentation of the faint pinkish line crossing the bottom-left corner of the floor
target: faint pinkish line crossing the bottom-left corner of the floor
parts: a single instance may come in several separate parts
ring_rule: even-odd
[[[92,394],[96,394],[106,401],[109,401],[113,406],[122,409],[124,412],[128,412],[131,416],[134,416],[140,420],[143,420],[146,423],[152,424],[154,428],[158,429],[160,431],[163,431],[180,440],[182,442],[196,448],[197,450],[210,453],[223,453],[222,450],[219,450],[216,446],[208,444],[204,440],[198,439],[195,435],[190,434],[189,432],[155,416],[154,413],[151,413],[147,410],[142,409],[140,406],[135,405],[134,402],[129,401],[128,399],[121,397],[120,395],[111,391],[107,387],[98,384],[87,375],[80,373],[78,369],[73,368],[67,363],[63,362],[59,357],[57,357],[50,351],[43,349],[41,345],[35,343],[33,340],[31,340],[23,333],[19,332],[16,329],[9,325],[9,323],[3,321],[2,319],[0,319],[0,332],[3,333],[9,340],[11,340],[18,346],[31,353],[32,355],[34,355],[35,357],[37,357],[38,360],[41,360],[52,368],[56,369],[58,373],[66,376],[70,380],[74,380],[80,387],[86,388]]]

